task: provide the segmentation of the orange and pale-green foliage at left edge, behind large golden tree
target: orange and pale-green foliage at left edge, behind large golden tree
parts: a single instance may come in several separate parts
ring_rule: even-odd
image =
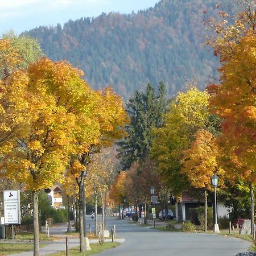
[[[39,44],[28,36],[16,36],[10,31],[0,39],[0,146],[15,137],[15,131],[19,127],[19,123],[14,123],[11,115],[7,113],[9,86],[6,80],[12,72],[27,68],[42,56]],[[5,149],[6,147],[1,147],[0,154]]]

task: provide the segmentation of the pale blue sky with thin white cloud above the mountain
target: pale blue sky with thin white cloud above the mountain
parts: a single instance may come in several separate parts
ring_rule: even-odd
[[[69,19],[96,17],[111,11],[131,11],[154,7],[159,0],[0,0],[0,34],[16,34],[39,26],[63,25]]]

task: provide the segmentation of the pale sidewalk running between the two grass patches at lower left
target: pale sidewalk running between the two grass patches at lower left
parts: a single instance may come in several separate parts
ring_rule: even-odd
[[[111,242],[111,239],[105,239],[105,242]],[[125,242],[125,239],[123,238],[116,238],[114,239],[114,242],[120,242],[123,243]],[[98,243],[98,240],[93,239],[89,240],[89,243]],[[77,238],[68,238],[68,247],[69,249],[73,247],[79,246],[79,239]],[[54,241],[54,242],[49,242],[48,245],[42,247],[40,249],[40,255],[48,255],[52,253],[58,253],[59,251],[65,251],[66,249],[66,243],[64,239],[61,239],[59,241]],[[33,251],[25,251],[23,253],[16,253],[16,254],[10,254],[10,256],[33,256],[34,253]]]

